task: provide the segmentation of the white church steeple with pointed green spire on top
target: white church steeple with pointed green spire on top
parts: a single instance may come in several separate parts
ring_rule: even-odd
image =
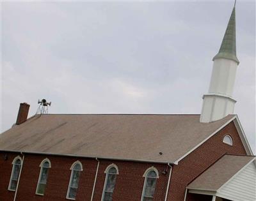
[[[232,93],[239,64],[236,57],[236,6],[232,10],[220,50],[212,61],[209,93],[203,96],[201,123],[216,121],[234,112],[236,100],[232,98]]]

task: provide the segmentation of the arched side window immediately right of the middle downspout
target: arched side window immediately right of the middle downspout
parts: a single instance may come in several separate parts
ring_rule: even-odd
[[[118,168],[115,164],[109,165],[106,170],[106,179],[104,189],[102,193],[102,201],[111,201],[115,189],[116,175],[118,174]]]

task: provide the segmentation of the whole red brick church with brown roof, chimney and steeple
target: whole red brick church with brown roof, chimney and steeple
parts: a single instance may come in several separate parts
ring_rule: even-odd
[[[232,98],[235,6],[212,60],[201,114],[27,118],[20,103],[0,138],[0,200],[255,201],[255,156]]]

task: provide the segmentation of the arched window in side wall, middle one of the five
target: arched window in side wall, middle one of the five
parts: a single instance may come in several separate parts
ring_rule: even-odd
[[[71,171],[71,175],[70,175],[70,181],[68,184],[67,198],[74,200],[74,199],[76,199],[79,177],[80,177],[81,171],[83,171],[83,165],[80,161],[76,161],[70,167],[70,170],[72,170],[72,171]]]

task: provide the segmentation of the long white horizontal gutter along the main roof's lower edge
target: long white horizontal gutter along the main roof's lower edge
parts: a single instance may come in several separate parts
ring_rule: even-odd
[[[13,152],[13,153],[20,153],[20,151],[15,150],[8,150],[8,149],[0,149],[3,152]],[[141,163],[159,163],[159,164],[171,164],[171,165],[178,165],[177,161],[175,162],[168,162],[168,161],[151,161],[151,160],[134,160],[134,159],[124,159],[124,158],[108,158],[108,157],[98,157],[98,156],[83,156],[83,155],[74,155],[74,154],[54,154],[54,153],[42,153],[42,152],[31,152],[31,151],[22,151],[22,153],[26,154],[42,154],[42,155],[49,155],[49,156],[68,156],[68,157],[80,157],[80,158],[97,158],[102,160],[116,160],[116,161],[132,161],[132,162],[141,162]]]

